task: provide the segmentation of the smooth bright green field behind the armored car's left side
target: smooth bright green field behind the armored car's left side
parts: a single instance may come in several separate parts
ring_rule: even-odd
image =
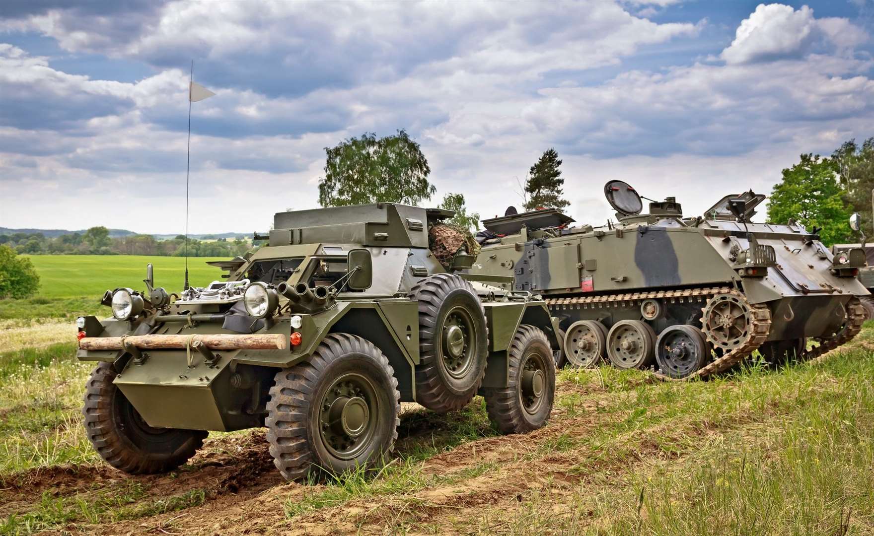
[[[136,255],[32,255],[39,274],[39,290],[29,299],[0,300],[0,320],[72,319],[81,314],[107,313],[100,305],[103,292],[119,286],[144,290],[146,265],[155,267],[155,283],[168,292],[184,286],[185,259]],[[191,285],[204,286],[221,278],[222,271],[206,261],[224,258],[190,258]]]

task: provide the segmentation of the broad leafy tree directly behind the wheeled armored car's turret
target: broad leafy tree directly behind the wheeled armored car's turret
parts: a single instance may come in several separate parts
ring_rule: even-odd
[[[325,148],[325,176],[319,181],[319,203],[341,207],[363,203],[419,204],[434,195],[431,168],[419,144],[404,130],[377,138],[360,138]]]

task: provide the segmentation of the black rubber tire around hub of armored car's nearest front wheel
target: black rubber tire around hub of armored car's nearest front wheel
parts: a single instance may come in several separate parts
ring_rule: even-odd
[[[358,457],[333,457],[323,446],[318,429],[319,406],[324,389],[347,372],[369,376],[380,400],[381,432],[371,448]],[[316,348],[309,361],[283,368],[275,375],[267,402],[267,442],[274,465],[287,480],[321,478],[357,467],[372,467],[385,461],[394,449],[400,424],[398,379],[385,354],[356,335],[331,333]]]

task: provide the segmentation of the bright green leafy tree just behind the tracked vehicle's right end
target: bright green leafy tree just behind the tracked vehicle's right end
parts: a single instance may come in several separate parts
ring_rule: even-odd
[[[820,237],[826,245],[852,242],[853,231],[848,223],[851,210],[843,194],[835,161],[820,155],[801,155],[799,163],[783,169],[782,182],[773,187],[768,220],[787,223],[794,219],[808,230],[822,227]]]

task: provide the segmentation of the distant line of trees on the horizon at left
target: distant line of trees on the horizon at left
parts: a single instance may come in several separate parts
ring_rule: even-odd
[[[29,255],[151,255],[184,257],[185,237],[157,240],[151,235],[110,237],[106,227],[92,227],[84,233],[69,233],[59,237],[45,237],[42,233],[14,233],[0,235],[0,245],[15,253]],[[188,240],[189,257],[235,257],[243,255],[252,245],[236,238],[204,241]]]

